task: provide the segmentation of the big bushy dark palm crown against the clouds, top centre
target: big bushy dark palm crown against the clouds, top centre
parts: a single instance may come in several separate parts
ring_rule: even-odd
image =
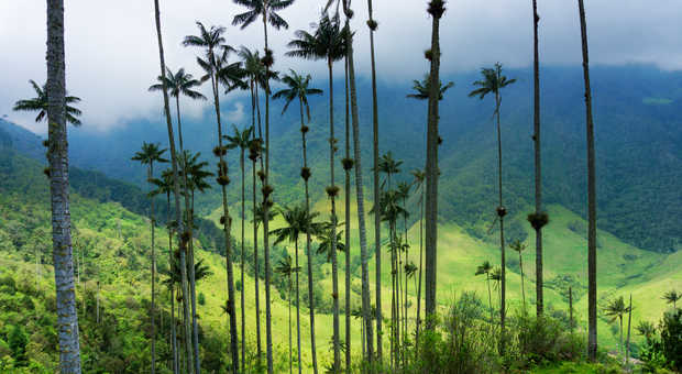
[[[336,62],[345,56],[345,28],[341,28],[339,15],[329,18],[322,13],[320,22],[312,24],[312,34],[305,30],[296,31],[297,38],[289,42],[292,51],[287,56],[306,59]]]

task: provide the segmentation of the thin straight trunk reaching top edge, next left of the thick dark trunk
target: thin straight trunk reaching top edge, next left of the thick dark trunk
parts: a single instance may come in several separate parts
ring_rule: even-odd
[[[378,206],[380,183],[378,183],[378,99],[376,95],[376,59],[374,55],[374,30],[376,21],[373,19],[372,0],[367,0],[369,26],[370,26],[370,52],[372,61],[372,156],[374,160],[374,204]],[[376,272],[376,355],[382,362],[382,219],[381,215],[374,215],[374,257]]]

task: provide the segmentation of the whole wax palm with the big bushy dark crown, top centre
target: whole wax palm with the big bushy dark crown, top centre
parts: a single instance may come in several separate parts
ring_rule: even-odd
[[[329,14],[323,13],[319,23],[314,24],[314,33],[308,33],[304,30],[296,31],[296,38],[289,42],[288,46],[292,51],[287,52],[287,56],[301,57],[306,59],[324,59],[327,62],[327,68],[329,70],[329,167],[330,167],[330,185],[327,187],[327,195],[331,199],[331,216],[332,222],[337,222],[337,205],[336,198],[339,193],[339,187],[334,185],[334,154],[337,152],[337,139],[334,138],[334,122],[333,122],[333,64],[340,61],[345,55],[345,32],[341,28],[339,16],[330,18]],[[332,242],[337,235],[336,223],[332,224]],[[331,245],[336,249],[336,245]],[[334,367],[341,366],[341,355],[339,348],[339,276],[337,254],[332,250],[331,252],[331,272],[332,272],[332,295],[333,298],[333,339],[334,339]],[[314,318],[314,309],[310,308],[310,319]],[[312,323],[311,323],[312,326]]]

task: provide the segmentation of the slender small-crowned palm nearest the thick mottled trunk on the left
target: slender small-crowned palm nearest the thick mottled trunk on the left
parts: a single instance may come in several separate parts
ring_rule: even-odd
[[[135,152],[135,155],[132,157],[133,161],[139,161],[142,165],[146,165],[147,169],[147,183],[150,187],[153,186],[154,178],[154,163],[167,163],[166,158],[163,158],[163,154],[166,153],[166,150],[160,148],[158,144],[154,143],[142,143],[142,151]],[[152,311],[150,315],[152,316],[152,372],[156,372],[156,323],[154,321],[154,317],[156,315],[156,252],[155,252],[155,243],[154,243],[154,227],[156,226],[156,221],[154,220],[154,198],[152,191],[150,191],[150,221],[152,227]]]

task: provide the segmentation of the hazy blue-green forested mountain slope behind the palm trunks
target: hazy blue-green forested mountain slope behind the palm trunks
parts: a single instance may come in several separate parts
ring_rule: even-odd
[[[562,205],[585,213],[586,176],[584,113],[581,70],[575,67],[547,67],[542,74],[543,185],[547,204]],[[512,213],[529,212],[532,202],[532,102],[531,72],[509,70],[518,82],[509,88],[502,105],[503,176],[507,209]],[[595,67],[593,69],[597,169],[598,227],[626,242],[656,252],[673,252],[682,241],[682,74],[661,72],[649,66]],[[420,78],[420,77],[415,77]],[[485,238],[495,218],[495,132],[493,106],[486,100],[468,98],[477,73],[443,78],[454,81],[441,108],[441,189],[440,219],[453,221],[476,237]],[[343,125],[341,80],[337,81],[337,125]],[[359,81],[359,100],[371,101],[370,82]],[[314,86],[324,88],[323,81]],[[380,81],[380,125],[383,152],[394,151],[403,160],[403,177],[424,167],[426,103],[406,98],[410,85]],[[328,105],[324,97],[311,97],[312,124],[309,152],[312,157],[311,194],[321,198],[329,165],[322,155],[327,146]],[[243,106],[243,116],[232,121],[238,127],[251,123],[250,102],[245,97],[222,99],[223,107]],[[571,105],[575,103],[575,105]],[[294,112],[279,116],[282,102],[273,103],[273,185],[278,202],[300,201],[302,182],[298,178],[300,150],[298,117]],[[371,134],[371,106],[360,106],[361,133]],[[199,121],[184,121],[187,147],[210,156],[217,144],[213,113],[206,109]],[[226,124],[231,132],[232,122]],[[141,184],[144,170],[130,161],[130,155],[144,139],[165,143],[161,122],[132,121],[108,132],[88,129],[87,123],[70,130],[72,162],[82,168]],[[363,136],[363,156],[370,157],[369,139]],[[29,142],[30,143],[30,142]],[[342,141],[341,141],[342,143]],[[292,146],[294,144],[294,146]],[[24,147],[31,155],[38,154]],[[371,158],[370,158],[371,160]],[[238,169],[238,154],[229,164]],[[365,163],[371,188],[370,167]],[[339,178],[342,178],[339,167]],[[237,197],[238,186],[230,186]],[[198,198],[197,210],[208,213],[219,206],[217,189]],[[234,201],[234,199],[232,199]],[[551,220],[551,218],[550,218]],[[512,232],[522,237],[525,220],[509,222]]]

